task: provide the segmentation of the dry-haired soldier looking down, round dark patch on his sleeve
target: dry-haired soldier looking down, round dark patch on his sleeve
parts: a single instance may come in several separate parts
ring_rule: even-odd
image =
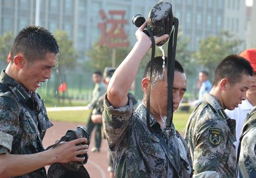
[[[246,99],[253,69],[243,57],[226,57],[215,71],[214,85],[191,113],[184,132],[195,177],[234,177],[236,170],[236,121],[233,110]]]

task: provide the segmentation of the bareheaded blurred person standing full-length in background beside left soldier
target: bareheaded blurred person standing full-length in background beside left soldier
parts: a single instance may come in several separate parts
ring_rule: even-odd
[[[90,103],[87,105],[90,109],[94,109],[96,106],[98,98],[105,94],[106,86],[102,82],[102,74],[100,71],[95,71],[92,76],[92,80],[95,83],[95,87],[92,92],[92,99]],[[95,128],[95,146],[91,148],[91,151],[99,151],[101,145],[101,128],[102,123],[94,123],[91,119],[92,113],[88,118],[88,122],[86,124],[88,130],[88,134],[91,135],[93,129]]]

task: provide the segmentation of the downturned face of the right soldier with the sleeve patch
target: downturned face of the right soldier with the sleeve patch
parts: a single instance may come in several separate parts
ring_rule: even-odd
[[[246,92],[251,86],[252,77],[243,74],[240,82],[230,85],[227,82],[225,90],[222,92],[221,97],[223,100],[224,109],[233,110],[246,99]]]

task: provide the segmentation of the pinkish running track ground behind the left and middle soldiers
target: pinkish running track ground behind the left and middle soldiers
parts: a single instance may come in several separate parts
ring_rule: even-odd
[[[78,125],[84,125],[84,123],[67,123],[67,122],[52,122],[54,125],[47,130],[46,136],[43,140],[43,144],[46,147],[52,145],[56,140],[60,139],[66,134],[67,130],[75,129]],[[107,171],[108,164],[106,162],[107,144],[106,140],[102,140],[100,152],[91,152],[90,149],[94,146],[94,131],[92,132],[91,144],[89,146],[90,159],[88,163],[84,165],[92,178],[94,177],[109,177]],[[47,169],[49,166],[46,167]]]

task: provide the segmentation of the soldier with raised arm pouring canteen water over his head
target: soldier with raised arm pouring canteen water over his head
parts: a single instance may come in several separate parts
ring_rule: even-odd
[[[150,62],[147,64],[141,87],[142,104],[133,112],[128,91],[135,79],[139,64],[151,47],[151,39],[143,33],[143,23],[137,30],[137,43],[116,69],[110,80],[104,100],[103,130],[108,145],[114,152],[115,177],[190,177],[191,162],[185,140],[175,130],[165,130],[167,115],[166,57],[156,57],[150,80]],[[154,37],[156,44],[168,35]],[[146,125],[146,98],[151,85],[150,128]],[[186,77],[182,66],[175,62],[173,105],[177,110],[186,91]]]

